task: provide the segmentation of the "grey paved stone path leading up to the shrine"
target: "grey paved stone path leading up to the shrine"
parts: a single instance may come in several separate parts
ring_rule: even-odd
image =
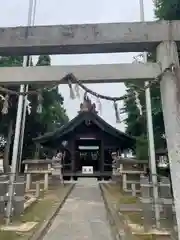
[[[44,240],[112,240],[106,209],[95,179],[80,180]]]

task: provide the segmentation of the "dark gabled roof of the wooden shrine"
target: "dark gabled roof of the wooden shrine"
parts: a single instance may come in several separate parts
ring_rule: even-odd
[[[75,118],[69,121],[67,124],[61,126],[56,129],[54,132],[49,132],[40,136],[38,138],[33,139],[35,142],[46,143],[49,141],[53,141],[57,138],[61,138],[64,135],[72,132],[77,126],[79,126],[83,121],[90,120],[95,125],[97,125],[102,131],[113,135],[119,139],[129,142],[129,146],[132,146],[135,143],[135,139],[125,134],[124,132],[112,127],[106,121],[104,121],[99,115],[95,112],[80,112]]]

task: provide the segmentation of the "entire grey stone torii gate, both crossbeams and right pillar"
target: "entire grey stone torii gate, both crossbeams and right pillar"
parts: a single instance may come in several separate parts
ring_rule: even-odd
[[[156,50],[157,63],[0,68],[0,84],[59,82],[73,73],[84,83],[152,80],[161,75],[161,98],[180,232],[180,22],[136,22],[0,28],[0,55],[84,54]],[[173,64],[174,68],[169,69]],[[174,70],[174,71],[173,71]],[[163,73],[163,74],[162,74]],[[62,80],[62,83],[65,83]]]

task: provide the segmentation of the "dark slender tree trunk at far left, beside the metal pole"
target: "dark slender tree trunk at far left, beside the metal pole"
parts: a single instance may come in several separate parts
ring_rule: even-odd
[[[4,161],[3,161],[4,173],[9,172],[9,152],[10,152],[10,147],[12,142],[12,134],[13,134],[13,120],[11,120],[9,123],[7,143],[4,150]]]

